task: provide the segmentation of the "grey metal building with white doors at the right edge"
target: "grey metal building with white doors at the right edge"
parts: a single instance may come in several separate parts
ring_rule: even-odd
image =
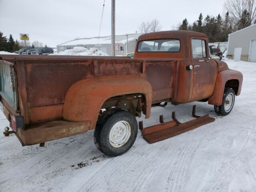
[[[256,62],[256,24],[228,35],[227,57]]]

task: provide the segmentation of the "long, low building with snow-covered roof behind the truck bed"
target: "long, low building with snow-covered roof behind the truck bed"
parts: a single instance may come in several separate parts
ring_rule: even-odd
[[[126,34],[116,35],[115,39],[115,54],[124,55],[129,52],[134,52],[136,42],[141,34]],[[93,37],[93,38],[82,38],[74,39],[62,44],[57,45],[57,52],[72,49],[74,47],[85,47],[90,49],[96,47],[108,55],[112,55],[111,36],[106,37]],[[126,51],[127,50],[127,51]]]

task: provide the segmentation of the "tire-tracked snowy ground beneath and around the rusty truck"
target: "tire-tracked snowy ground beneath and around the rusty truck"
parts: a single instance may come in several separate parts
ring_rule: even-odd
[[[216,121],[167,140],[148,144],[140,131],[134,146],[122,156],[99,152],[93,130],[22,147],[16,136],[0,134],[0,191],[64,192],[255,192],[256,191],[256,63],[226,60],[244,75],[241,95],[232,112],[217,116],[213,106],[194,102],[152,107],[144,126],[170,120],[181,122],[209,113]],[[0,132],[8,126],[0,114]]]

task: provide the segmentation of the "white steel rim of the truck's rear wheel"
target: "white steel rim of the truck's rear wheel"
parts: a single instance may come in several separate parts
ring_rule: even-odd
[[[109,133],[109,142],[115,147],[119,148],[124,146],[131,136],[131,126],[127,121],[118,121],[111,128]]]

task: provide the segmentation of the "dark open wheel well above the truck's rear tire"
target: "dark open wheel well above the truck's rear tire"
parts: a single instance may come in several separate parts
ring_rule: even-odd
[[[146,98],[144,94],[127,94],[108,98],[101,107],[101,112],[110,108],[122,108],[128,110],[134,116],[141,116],[141,112],[145,114]]]

